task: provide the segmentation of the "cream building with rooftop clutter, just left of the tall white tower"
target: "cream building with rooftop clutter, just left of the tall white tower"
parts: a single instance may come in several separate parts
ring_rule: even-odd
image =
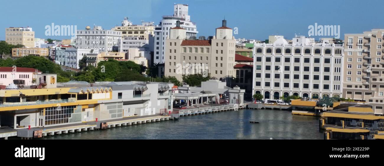
[[[121,21],[121,26],[111,28],[112,31],[121,32],[121,37],[138,37],[144,40],[148,40],[149,37],[153,37],[155,27],[153,22],[141,22],[141,25],[134,25],[127,17]]]

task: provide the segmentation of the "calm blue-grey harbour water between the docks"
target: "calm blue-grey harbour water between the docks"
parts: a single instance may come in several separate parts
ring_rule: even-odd
[[[318,119],[290,111],[242,109],[42,139],[323,139]]]

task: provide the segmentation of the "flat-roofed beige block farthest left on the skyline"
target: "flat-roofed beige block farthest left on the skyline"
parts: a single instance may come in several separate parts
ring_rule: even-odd
[[[35,32],[32,28],[9,27],[5,28],[5,41],[8,44],[22,44],[25,47],[35,47]]]

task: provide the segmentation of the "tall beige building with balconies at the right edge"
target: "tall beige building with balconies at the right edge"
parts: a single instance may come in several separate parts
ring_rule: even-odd
[[[366,101],[375,114],[384,106],[384,29],[345,34],[343,97]]]

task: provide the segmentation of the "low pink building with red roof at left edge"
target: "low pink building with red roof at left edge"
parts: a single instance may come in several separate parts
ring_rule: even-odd
[[[8,86],[13,80],[24,80],[25,86],[34,85],[32,80],[36,80],[36,74],[41,74],[41,71],[26,67],[0,67],[0,85]]]

